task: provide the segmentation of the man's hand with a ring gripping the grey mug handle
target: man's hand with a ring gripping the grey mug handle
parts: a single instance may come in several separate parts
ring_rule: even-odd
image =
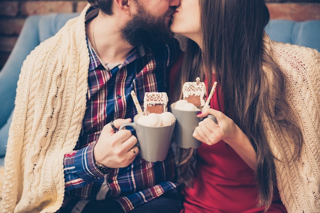
[[[119,128],[126,122],[131,122],[131,119],[117,119],[113,121],[113,125]],[[116,132],[108,123],[103,127],[94,148],[95,160],[108,168],[126,167],[133,162],[139,152],[138,147],[135,146],[137,141],[130,130],[122,129]]]

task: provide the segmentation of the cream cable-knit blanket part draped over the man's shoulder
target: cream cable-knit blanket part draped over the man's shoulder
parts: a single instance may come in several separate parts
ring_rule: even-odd
[[[76,145],[86,108],[88,7],[22,65],[5,157],[2,212],[55,212],[62,204],[63,156]]]

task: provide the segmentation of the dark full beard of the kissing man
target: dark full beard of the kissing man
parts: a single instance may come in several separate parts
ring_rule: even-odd
[[[121,31],[122,38],[132,46],[168,43],[173,38],[173,33],[164,22],[166,15],[155,17],[141,10],[124,26]]]

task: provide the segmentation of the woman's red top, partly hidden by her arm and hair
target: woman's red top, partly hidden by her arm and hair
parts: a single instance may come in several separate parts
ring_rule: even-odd
[[[223,111],[217,102],[219,93],[218,85],[210,105]],[[221,104],[221,95],[219,98]],[[194,188],[185,189],[185,210],[181,212],[263,212],[263,207],[256,207],[258,189],[254,171],[223,141],[212,146],[202,143],[197,149],[195,174]],[[268,212],[287,212],[278,188]]]

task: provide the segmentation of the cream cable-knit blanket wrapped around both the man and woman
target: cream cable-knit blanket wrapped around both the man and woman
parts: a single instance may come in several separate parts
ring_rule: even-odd
[[[35,48],[22,66],[5,158],[3,212],[55,212],[62,204],[63,157],[76,145],[86,107],[87,9]],[[289,212],[320,212],[320,54],[267,36],[265,46],[286,76],[284,92],[293,109],[288,116],[304,139],[299,161],[275,162],[281,199]],[[292,144],[279,140],[268,119],[264,123],[272,152],[288,162]]]

